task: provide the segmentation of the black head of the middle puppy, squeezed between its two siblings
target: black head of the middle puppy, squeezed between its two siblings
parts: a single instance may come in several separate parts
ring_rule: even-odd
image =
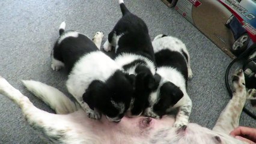
[[[129,117],[139,116],[148,106],[148,97],[151,92],[156,91],[160,76],[151,73],[150,69],[145,66],[139,66],[136,68],[135,73],[135,95],[132,98],[129,110],[126,115]]]

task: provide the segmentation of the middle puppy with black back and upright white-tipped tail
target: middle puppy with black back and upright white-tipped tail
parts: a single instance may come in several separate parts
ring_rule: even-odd
[[[130,13],[123,0],[119,4],[123,16],[109,33],[103,49],[108,52],[115,47],[115,62],[126,73],[135,75],[135,97],[127,115],[138,116],[145,109],[150,92],[157,88],[153,46],[145,22]]]

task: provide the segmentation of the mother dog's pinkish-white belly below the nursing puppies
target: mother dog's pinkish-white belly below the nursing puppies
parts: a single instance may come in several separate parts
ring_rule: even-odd
[[[170,116],[163,116],[162,119],[124,117],[115,123],[109,122],[105,116],[94,120],[83,113],[81,110],[66,118],[76,131],[73,135],[82,143],[242,143],[198,124],[188,124],[183,129],[174,128],[175,119]]]

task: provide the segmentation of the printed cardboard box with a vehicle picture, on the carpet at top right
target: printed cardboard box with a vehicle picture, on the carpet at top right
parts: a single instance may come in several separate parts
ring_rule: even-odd
[[[178,0],[175,10],[231,58],[233,48],[255,46],[255,0]]]

